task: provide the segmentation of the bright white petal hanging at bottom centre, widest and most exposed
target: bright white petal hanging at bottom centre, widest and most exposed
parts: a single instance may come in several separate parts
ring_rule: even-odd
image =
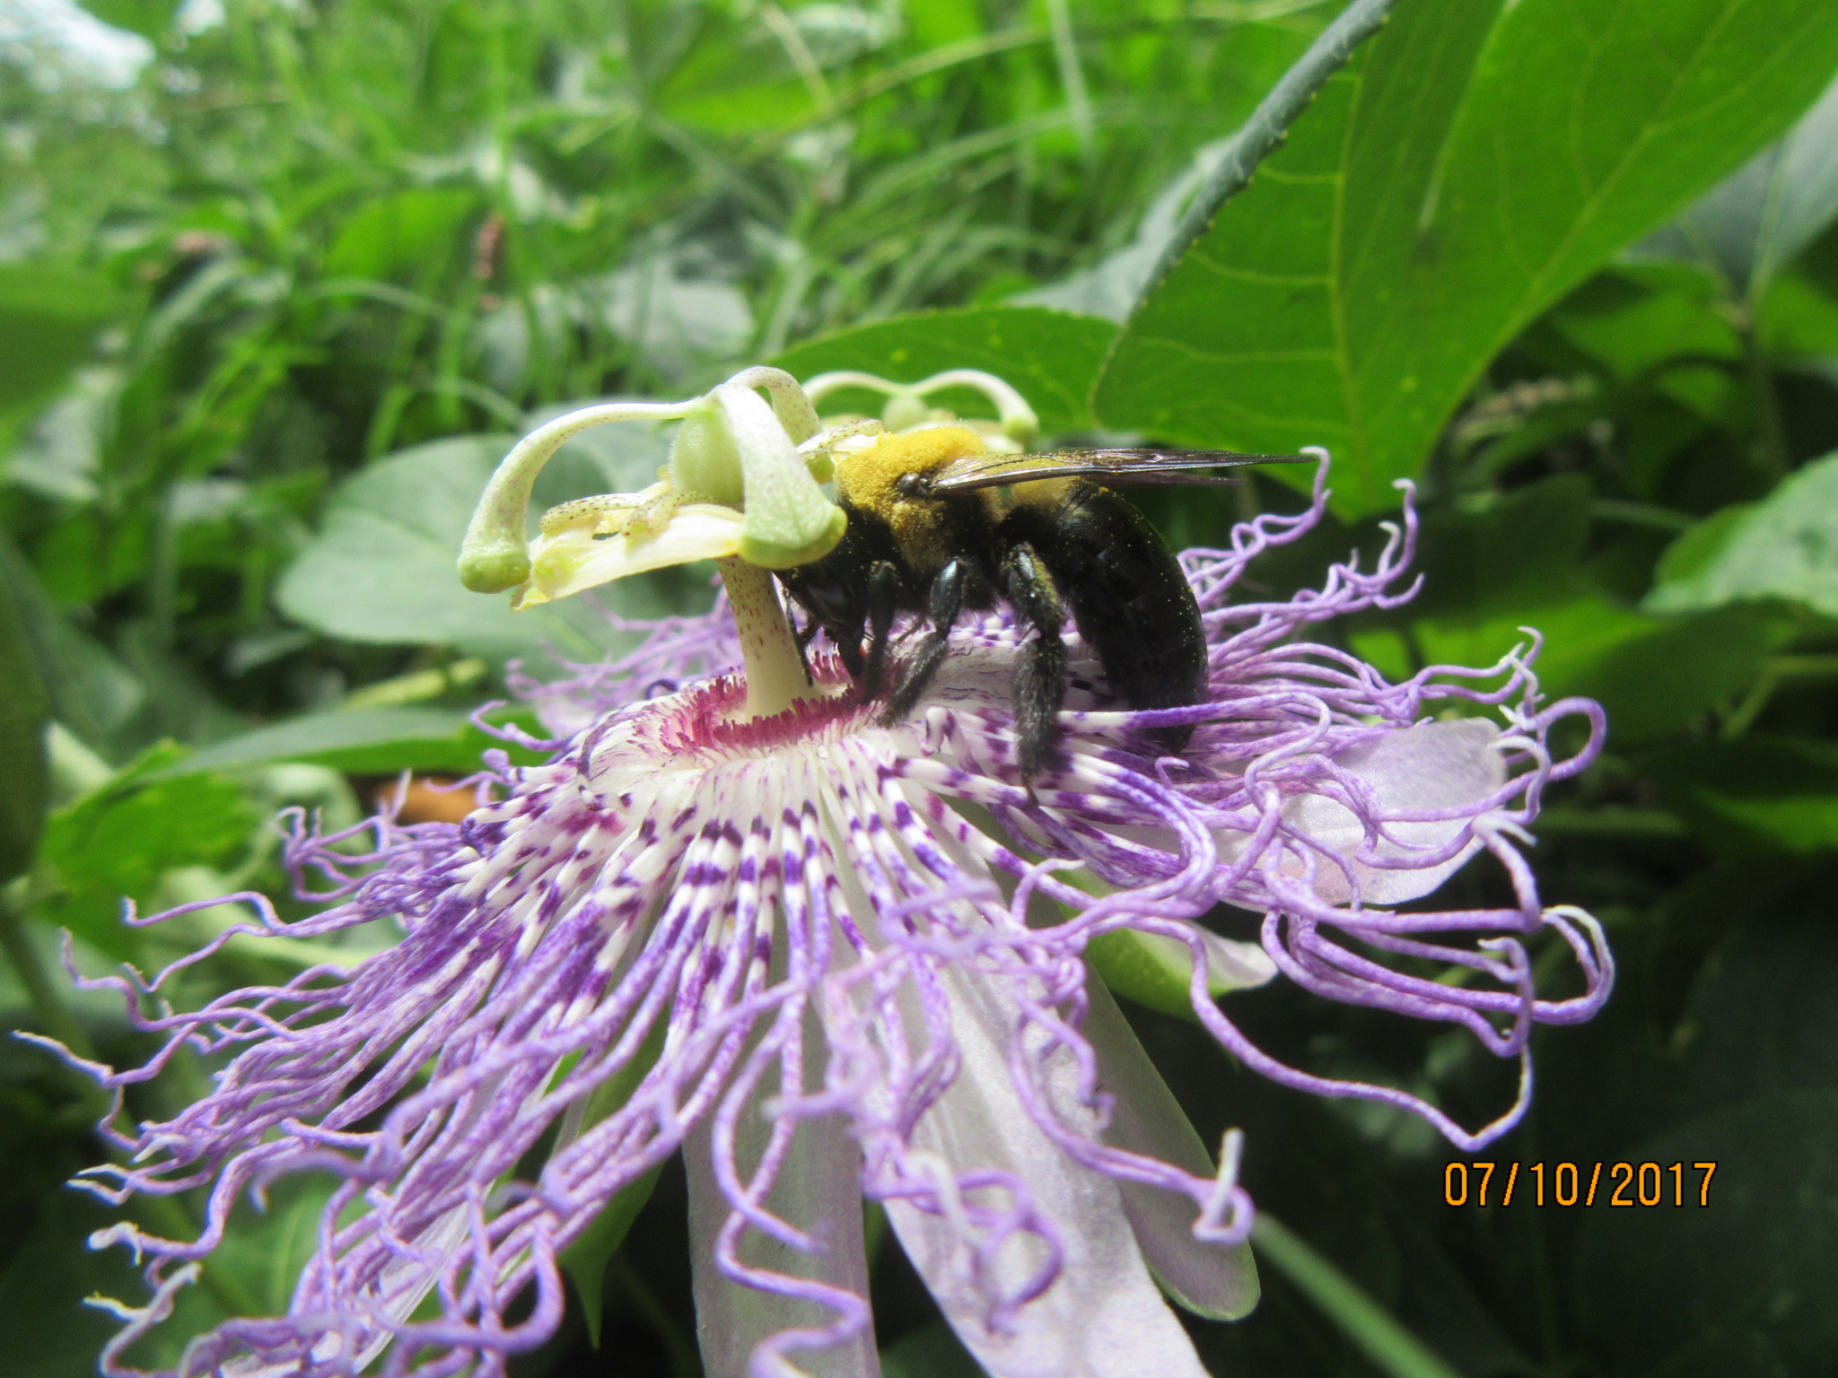
[[[1015,1007],[987,979],[945,972],[961,1069],[913,1132],[913,1146],[956,1172],[1005,1169],[1033,1192],[1064,1249],[1059,1277],[1027,1303],[1009,1334],[985,1325],[983,1299],[963,1271],[952,1227],[904,1202],[888,1202],[906,1255],[945,1319],[994,1378],[1206,1378],[1193,1343],[1162,1301],[1123,1214],[1116,1183],[1073,1163],[1029,1119],[1009,1071]],[[1055,1058],[1049,1093],[1072,1123],[1072,1058]],[[1040,1264],[1018,1240],[996,1260],[1000,1282],[1018,1288]]]

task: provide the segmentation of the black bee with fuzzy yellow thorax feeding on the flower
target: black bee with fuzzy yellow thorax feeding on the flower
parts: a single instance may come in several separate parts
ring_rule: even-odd
[[[777,571],[807,614],[800,645],[825,632],[862,702],[875,700],[895,671],[884,713],[891,722],[937,674],[958,617],[1005,601],[1035,630],[1015,669],[1018,764],[1031,781],[1055,748],[1068,616],[1132,709],[1206,698],[1206,634],[1193,590],[1162,535],[1112,489],[1235,483],[1195,470],[1307,456],[994,454],[965,426],[928,426],[834,459],[836,500],[849,518],[842,542],[820,560]],[[930,630],[912,656],[890,665],[901,612],[921,614]],[[1191,726],[1169,726],[1151,739],[1180,751],[1191,735]]]

